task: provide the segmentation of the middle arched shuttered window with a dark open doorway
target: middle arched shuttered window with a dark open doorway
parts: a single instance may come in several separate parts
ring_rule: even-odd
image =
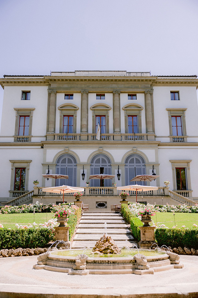
[[[96,154],[91,159],[90,175],[94,174],[109,174],[111,175],[111,160],[104,154]],[[90,186],[111,186],[111,179],[90,179]]]

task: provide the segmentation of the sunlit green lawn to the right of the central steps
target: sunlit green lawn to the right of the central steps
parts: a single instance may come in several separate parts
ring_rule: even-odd
[[[172,228],[177,225],[178,228],[181,226],[186,226],[186,228],[191,229],[193,224],[198,226],[198,213],[175,213],[175,221],[174,215],[172,212],[156,212],[156,215],[151,216],[151,219],[160,224],[165,224],[168,228]]]

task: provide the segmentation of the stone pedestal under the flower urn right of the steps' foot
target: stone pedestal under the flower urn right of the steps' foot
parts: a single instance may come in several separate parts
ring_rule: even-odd
[[[138,243],[139,248],[149,249],[155,242],[154,229],[155,226],[140,226],[140,242]]]

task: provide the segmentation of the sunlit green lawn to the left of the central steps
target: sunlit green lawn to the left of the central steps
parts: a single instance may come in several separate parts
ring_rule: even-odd
[[[52,218],[54,213],[17,213],[17,214],[0,214],[0,222],[4,228],[15,229],[15,224],[44,224]]]

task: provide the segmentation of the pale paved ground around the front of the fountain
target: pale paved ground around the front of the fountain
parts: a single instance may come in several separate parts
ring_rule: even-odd
[[[180,256],[182,269],[151,275],[68,275],[35,270],[37,256],[0,259],[1,298],[196,298],[198,256]]]

